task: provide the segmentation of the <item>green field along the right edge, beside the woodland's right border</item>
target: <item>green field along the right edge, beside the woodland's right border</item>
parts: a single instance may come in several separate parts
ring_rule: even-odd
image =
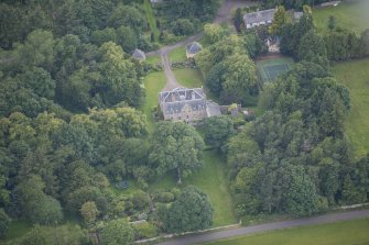
[[[369,59],[339,63],[333,71],[350,90],[352,110],[346,120],[346,133],[352,142],[355,156],[369,153]]]

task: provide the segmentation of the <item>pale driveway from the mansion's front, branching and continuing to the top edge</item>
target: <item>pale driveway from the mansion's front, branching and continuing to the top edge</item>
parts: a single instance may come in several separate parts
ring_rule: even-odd
[[[224,0],[221,7],[218,10],[218,13],[214,20],[214,23],[220,24],[220,23],[231,23],[231,10],[234,8],[242,8],[242,7],[249,7],[252,4],[257,4],[258,2],[251,2],[251,1],[242,1],[242,0]],[[165,78],[166,78],[166,85],[165,87],[162,89],[162,91],[169,91],[172,90],[174,88],[177,87],[183,87],[181,86],[177,80],[175,79],[175,76],[171,69],[171,65],[170,65],[170,60],[167,57],[167,54],[170,52],[172,52],[173,49],[181,47],[181,46],[186,46],[187,44],[199,40],[202,36],[204,35],[203,32],[197,33],[193,36],[187,37],[184,41],[181,41],[178,43],[175,44],[171,44],[171,45],[166,45],[161,47],[158,51],[152,51],[146,53],[145,55],[148,57],[150,56],[154,56],[154,55],[160,55],[162,58],[162,65],[164,68],[164,74],[165,74]]]

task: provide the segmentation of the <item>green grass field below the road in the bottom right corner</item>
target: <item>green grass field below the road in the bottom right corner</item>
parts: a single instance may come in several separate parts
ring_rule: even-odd
[[[369,244],[369,220],[354,220],[275,231],[207,243],[213,245],[363,245]]]

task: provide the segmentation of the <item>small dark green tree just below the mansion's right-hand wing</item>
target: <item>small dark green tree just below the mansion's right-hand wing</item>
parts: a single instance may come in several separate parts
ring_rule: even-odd
[[[215,148],[223,148],[235,133],[234,122],[226,115],[207,118],[204,122],[205,143]]]

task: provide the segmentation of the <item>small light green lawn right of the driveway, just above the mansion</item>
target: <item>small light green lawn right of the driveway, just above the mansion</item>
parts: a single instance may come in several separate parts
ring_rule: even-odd
[[[177,81],[186,88],[200,88],[203,76],[198,69],[183,68],[173,70]]]

